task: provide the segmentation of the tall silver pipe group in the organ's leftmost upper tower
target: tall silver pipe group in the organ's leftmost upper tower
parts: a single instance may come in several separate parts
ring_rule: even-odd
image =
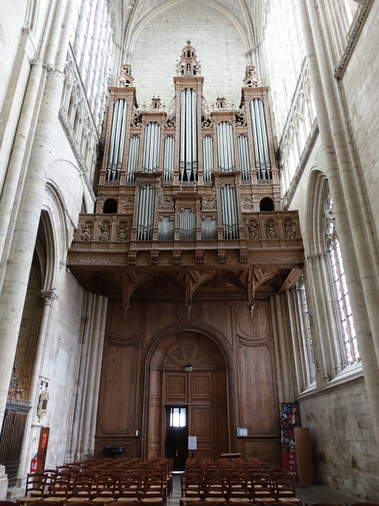
[[[124,152],[126,118],[128,103],[119,99],[114,104],[111,140],[109,142],[109,154],[107,162],[107,181],[120,179],[122,158]]]

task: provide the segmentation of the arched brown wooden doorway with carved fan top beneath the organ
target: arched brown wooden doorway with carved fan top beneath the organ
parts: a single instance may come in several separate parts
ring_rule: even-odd
[[[189,366],[192,370],[185,370]],[[167,438],[171,407],[186,409],[187,434],[182,431],[182,438],[197,436],[198,443],[191,456],[213,458],[227,452],[228,376],[225,357],[217,344],[199,331],[175,332],[155,348],[149,372],[147,456],[170,452]],[[180,451],[183,445],[186,451],[186,444],[181,441]]]

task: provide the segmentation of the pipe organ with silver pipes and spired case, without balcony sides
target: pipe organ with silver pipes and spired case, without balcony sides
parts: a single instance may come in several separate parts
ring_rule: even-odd
[[[167,110],[159,98],[150,109],[138,108],[130,65],[122,72],[110,89],[97,212],[109,208],[107,199],[116,200],[134,244],[252,240],[251,213],[259,212],[262,199],[271,200],[270,210],[280,203],[268,89],[254,66],[246,69],[234,110],[223,97],[208,106],[189,41]]]

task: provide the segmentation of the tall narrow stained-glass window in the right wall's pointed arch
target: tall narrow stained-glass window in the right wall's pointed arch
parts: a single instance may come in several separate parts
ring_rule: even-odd
[[[334,282],[337,292],[338,306],[340,310],[341,324],[345,353],[349,363],[359,358],[357,336],[354,328],[354,319],[351,311],[349,293],[346,284],[344,264],[341,256],[340,242],[335,225],[333,200],[328,193],[325,205],[326,236],[330,252],[331,266],[333,269]]]

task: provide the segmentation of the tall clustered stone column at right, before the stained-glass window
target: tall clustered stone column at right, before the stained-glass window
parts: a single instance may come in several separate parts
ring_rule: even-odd
[[[361,169],[357,164],[340,82],[334,79],[328,61],[329,33],[322,26],[319,2],[298,0],[305,53],[308,60],[317,112],[320,140],[326,159],[326,174],[334,199],[350,300],[353,307],[359,353],[367,397],[379,441],[379,286],[375,263],[377,251],[364,195]],[[322,83],[321,83],[322,78]],[[337,81],[337,82],[336,82]]]

